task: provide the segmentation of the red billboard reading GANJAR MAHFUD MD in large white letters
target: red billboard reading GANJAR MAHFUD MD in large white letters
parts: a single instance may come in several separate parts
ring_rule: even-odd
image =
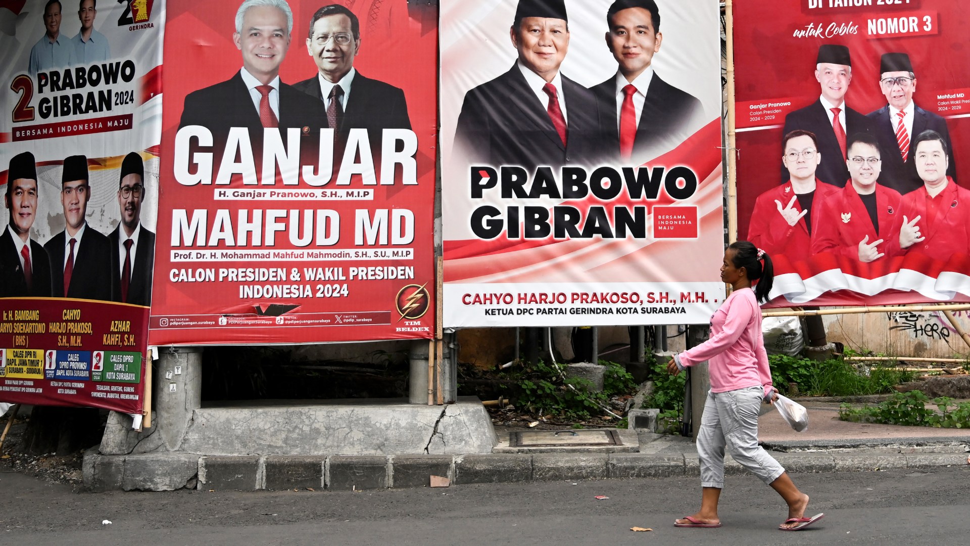
[[[151,343],[431,337],[436,8],[168,11]]]

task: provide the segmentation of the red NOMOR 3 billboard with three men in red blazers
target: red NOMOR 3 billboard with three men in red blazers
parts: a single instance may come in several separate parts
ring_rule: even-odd
[[[737,237],[775,258],[768,306],[970,301],[967,24],[957,0],[734,2]]]

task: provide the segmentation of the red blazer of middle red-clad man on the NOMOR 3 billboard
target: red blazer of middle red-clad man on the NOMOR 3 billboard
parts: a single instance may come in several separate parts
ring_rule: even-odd
[[[852,183],[830,195],[822,203],[819,223],[812,223],[812,254],[830,252],[835,256],[858,259],[858,244],[869,236],[869,243],[883,239],[876,250],[886,256],[899,254],[899,227],[903,215],[899,212],[902,196],[895,189],[876,184],[876,211],[879,233],[869,219]]]

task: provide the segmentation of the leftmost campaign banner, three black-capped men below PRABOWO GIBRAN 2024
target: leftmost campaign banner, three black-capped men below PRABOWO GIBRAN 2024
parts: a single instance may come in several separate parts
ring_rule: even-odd
[[[164,2],[0,2],[0,400],[141,414]]]

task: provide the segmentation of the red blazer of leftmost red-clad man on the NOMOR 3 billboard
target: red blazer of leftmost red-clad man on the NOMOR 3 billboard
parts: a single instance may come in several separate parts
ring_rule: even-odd
[[[818,229],[822,214],[822,203],[839,188],[815,180],[815,195],[812,197],[812,229]],[[794,225],[789,225],[785,217],[778,212],[779,201],[782,207],[789,204],[794,196],[792,181],[786,182],[778,188],[771,188],[761,193],[755,201],[755,208],[751,213],[751,223],[748,225],[748,240],[771,256],[786,255],[792,261],[805,259],[812,250],[812,239],[808,233],[808,226],[804,217],[798,219]],[[792,205],[799,213],[801,203],[795,199]]]

